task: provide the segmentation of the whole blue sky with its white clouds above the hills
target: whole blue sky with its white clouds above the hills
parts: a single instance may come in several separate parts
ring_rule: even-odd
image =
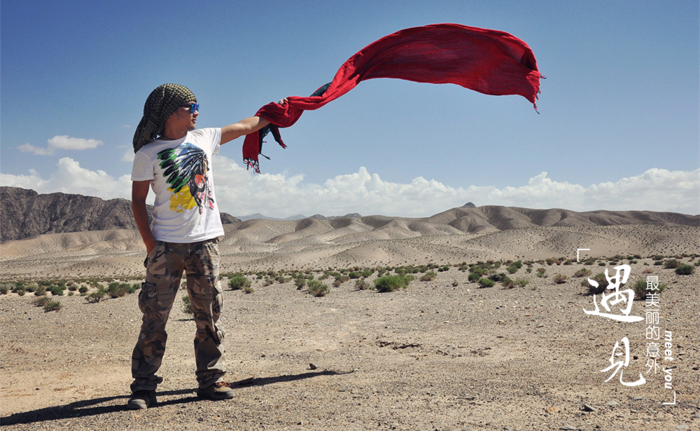
[[[132,136],[166,82],[221,127],[309,95],[407,27],[456,22],[528,43],[547,79],[520,96],[375,79],[272,139],[214,160],[244,216],[424,217],[469,201],[699,214],[697,1],[31,1],[0,6],[0,184],[130,198]]]

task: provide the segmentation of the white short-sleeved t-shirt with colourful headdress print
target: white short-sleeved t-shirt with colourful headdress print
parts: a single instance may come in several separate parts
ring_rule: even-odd
[[[155,240],[188,243],[224,234],[211,170],[220,146],[221,129],[204,128],[174,141],[155,139],[136,153],[132,181],[151,181],[155,192]]]

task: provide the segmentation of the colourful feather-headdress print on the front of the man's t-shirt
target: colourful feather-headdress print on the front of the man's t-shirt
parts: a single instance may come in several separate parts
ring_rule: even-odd
[[[202,149],[182,143],[175,148],[158,153],[163,177],[170,185],[170,209],[176,212],[197,207],[200,214],[204,207],[214,210],[214,199],[209,193],[209,160]]]

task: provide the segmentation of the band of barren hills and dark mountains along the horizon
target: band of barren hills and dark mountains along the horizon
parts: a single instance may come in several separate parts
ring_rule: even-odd
[[[144,245],[130,203],[22,189],[1,189],[0,265],[8,277],[50,273],[143,271]],[[458,207],[431,217],[230,216],[221,240],[222,268],[376,266],[472,259],[542,259],[576,249],[591,255],[694,253],[700,216],[650,211],[531,210]],[[32,238],[29,238],[32,237]],[[13,238],[25,238],[13,240]]]

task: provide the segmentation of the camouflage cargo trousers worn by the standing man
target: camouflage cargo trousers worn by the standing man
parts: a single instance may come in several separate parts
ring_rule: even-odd
[[[155,390],[162,377],[156,376],[165,353],[165,324],[178,296],[183,271],[195,311],[195,364],[200,388],[220,381],[224,371],[224,331],[217,325],[221,316],[218,240],[176,244],[161,242],[146,258],[146,282],[139,292],[144,313],[141,334],[132,355],[132,392]]]

